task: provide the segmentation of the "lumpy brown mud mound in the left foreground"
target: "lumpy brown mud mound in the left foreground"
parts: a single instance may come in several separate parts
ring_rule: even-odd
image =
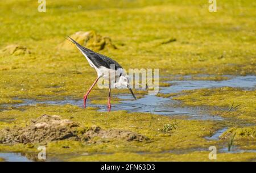
[[[100,126],[82,127],[60,116],[43,115],[26,127],[14,126],[0,131],[0,144],[29,144],[51,141],[75,140],[89,143],[108,142],[108,139],[145,141],[147,137],[128,130],[101,129]]]

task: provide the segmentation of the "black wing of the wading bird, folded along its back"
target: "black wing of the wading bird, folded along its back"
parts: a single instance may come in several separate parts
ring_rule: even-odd
[[[103,54],[94,52],[93,50],[90,50],[88,48],[83,47],[82,45],[77,43],[75,40],[73,40],[71,37],[69,37],[69,39],[71,39],[69,41],[76,44],[77,48],[79,48],[84,54],[86,54],[86,56],[90,59],[90,61],[92,61],[92,63],[97,68],[100,68],[101,66],[104,66],[104,67],[110,69],[111,64],[115,65],[115,70],[117,70],[119,68],[122,68],[122,66],[119,65],[117,61],[114,61],[111,58],[109,58],[109,57],[107,57]]]

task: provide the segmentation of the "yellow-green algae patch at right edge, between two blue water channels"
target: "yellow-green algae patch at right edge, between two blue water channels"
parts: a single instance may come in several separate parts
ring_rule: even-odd
[[[246,91],[240,88],[222,87],[206,88],[200,90],[183,91],[183,94],[173,98],[182,100],[189,106],[218,106],[226,107],[226,111],[216,110],[213,113],[224,117],[235,117],[237,119],[256,122],[255,117],[255,90]],[[238,106],[229,111],[232,104]]]

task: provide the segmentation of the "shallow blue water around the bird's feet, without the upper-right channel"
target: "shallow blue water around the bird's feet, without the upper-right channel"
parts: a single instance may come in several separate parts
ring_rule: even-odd
[[[208,110],[203,107],[180,107],[179,102],[170,98],[162,98],[155,95],[146,95],[141,99],[133,100],[130,95],[117,95],[118,98],[126,98],[128,100],[120,101],[118,104],[113,104],[111,111],[126,110],[128,112],[142,112],[152,113],[156,115],[185,115],[191,119],[200,120],[223,120],[220,116],[210,115]],[[23,100],[23,103],[15,104],[15,107],[21,106],[36,106],[36,104],[51,104],[51,105],[65,105],[72,104],[75,106],[83,107],[83,100],[30,100],[30,99],[19,99]],[[154,100],[154,102],[152,102]],[[100,112],[108,112],[108,107],[102,104],[86,104],[88,107],[96,107]]]

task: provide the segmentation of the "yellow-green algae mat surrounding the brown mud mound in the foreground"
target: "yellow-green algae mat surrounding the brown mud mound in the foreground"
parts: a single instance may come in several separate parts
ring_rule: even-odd
[[[127,113],[117,112],[97,112],[89,109],[82,109],[76,106],[36,106],[27,107],[24,111],[11,110],[1,112],[1,116],[15,118],[10,123],[0,122],[0,128],[12,128],[13,126],[26,126],[32,119],[38,117],[38,112],[47,112],[49,115],[59,115],[63,119],[71,119],[82,126],[101,126],[104,129],[124,129],[143,134],[150,141],[145,142],[125,142],[122,140],[110,140],[100,144],[88,145],[77,141],[56,141],[47,144],[49,154],[68,153],[112,153],[112,152],[156,152],[171,149],[192,149],[195,147],[207,147],[216,144],[215,141],[207,141],[205,136],[209,136],[218,128],[218,124],[212,121],[199,120],[174,120],[171,117],[157,116],[147,113]],[[162,133],[158,129],[164,124],[176,122],[176,129]],[[34,144],[35,146],[38,144]],[[65,146],[65,149],[63,149]],[[68,147],[67,147],[68,146]],[[66,149],[67,148],[67,149]],[[13,146],[0,145],[0,150],[7,151],[34,151],[35,147],[22,147],[17,144]]]

